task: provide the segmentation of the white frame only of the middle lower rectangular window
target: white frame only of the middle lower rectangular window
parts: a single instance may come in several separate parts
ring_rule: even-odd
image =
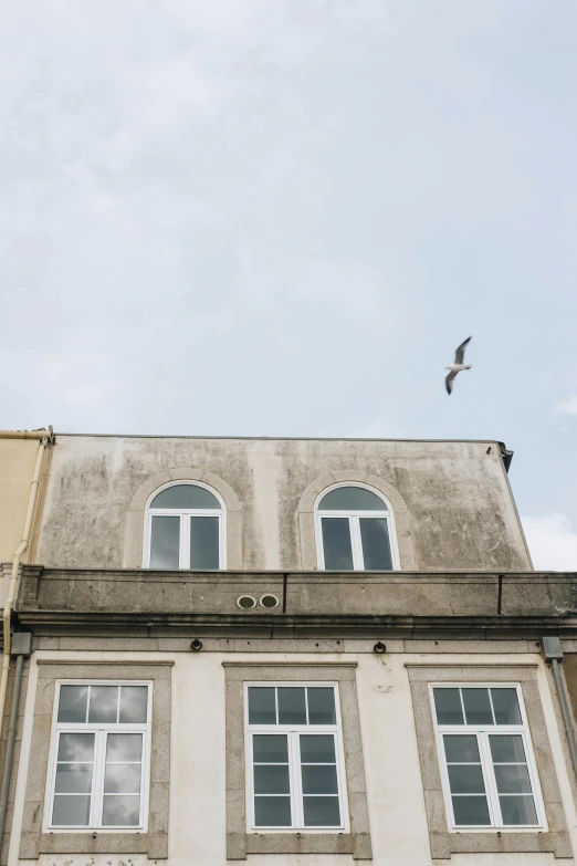
[[[250,688],[332,688],[335,696],[335,724],[250,724],[249,723],[249,689]],[[277,700],[277,698],[276,698]],[[277,708],[279,709],[279,708]],[[286,734],[288,739],[288,779],[291,797],[291,826],[261,827],[254,820],[254,762],[252,751],[252,738],[254,734]],[[335,738],[335,759],[337,773],[338,804],[340,811],[340,825],[332,827],[307,827],[304,824],[303,791],[301,779],[300,740],[302,733],[333,734]],[[348,799],[345,774],[345,750],[343,747],[343,727],[340,723],[340,701],[338,682],[287,682],[275,681],[244,682],[244,754],[246,761],[246,831],[248,833],[349,833]]]

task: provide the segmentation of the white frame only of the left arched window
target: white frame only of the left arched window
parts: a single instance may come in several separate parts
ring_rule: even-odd
[[[208,490],[214,499],[218,500],[220,508],[154,508],[154,501],[159,493],[174,487],[197,487]],[[179,518],[179,543],[178,543],[178,565],[158,566],[150,564],[151,541],[153,541],[153,520],[155,518]],[[145,568],[151,567],[175,567],[191,570],[191,520],[193,518],[216,518],[218,520],[218,568],[208,568],[208,571],[222,571],[227,567],[227,508],[224,500],[214,488],[202,483],[201,481],[170,481],[157,488],[149,497],[145,508],[145,531],[143,539],[143,563]]]

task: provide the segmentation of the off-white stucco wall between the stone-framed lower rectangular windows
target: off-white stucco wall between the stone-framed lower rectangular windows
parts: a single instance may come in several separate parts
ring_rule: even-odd
[[[20,826],[29,765],[32,711],[36,691],[38,658],[62,661],[66,658],[111,661],[153,661],[174,659],[171,708],[171,778],[169,858],[167,866],[227,866],[225,859],[225,747],[224,747],[224,671],[222,661],[271,660],[271,654],[220,653],[74,653],[35,654],[30,671],[22,753],[18,770],[14,824],[9,866],[19,862]],[[412,717],[409,681],[405,664],[511,664],[508,655],[403,655],[375,656],[367,653],[342,655],[276,654],[275,660],[306,660],[327,664],[357,661],[357,687],[367,779],[369,815],[375,866],[448,866],[448,860],[432,862],[422,797],[419,758]],[[538,662],[538,687],[554,768],[564,801],[565,815],[577,851],[577,816],[569,778],[562,751],[554,707],[545,669],[536,655],[515,654],[515,664]],[[129,859],[132,862],[129,862]],[[144,866],[146,858],[129,855],[105,855],[92,859],[60,855],[43,857],[41,866]],[[249,856],[248,866],[354,866],[348,856]],[[573,859],[555,859],[548,854],[453,855],[451,866],[573,866]]]

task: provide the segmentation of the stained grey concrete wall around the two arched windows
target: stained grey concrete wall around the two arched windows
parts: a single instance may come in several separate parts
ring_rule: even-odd
[[[57,437],[36,562],[126,565],[133,498],[155,476],[179,468],[211,472],[237,494],[243,568],[302,567],[297,511],[304,491],[318,479],[329,484],[367,473],[406,503],[413,568],[531,567],[494,442],[114,436]]]

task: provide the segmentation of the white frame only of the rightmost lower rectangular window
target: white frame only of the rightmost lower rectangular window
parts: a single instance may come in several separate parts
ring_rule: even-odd
[[[453,688],[453,689],[515,689],[517,695],[517,702],[521,712],[521,724],[439,724],[437,721],[437,709],[434,706],[433,689]],[[547,832],[547,818],[545,815],[545,805],[543,802],[543,794],[541,791],[539,778],[537,773],[537,764],[535,761],[535,754],[533,751],[533,743],[531,741],[531,732],[527,721],[527,714],[525,712],[525,705],[523,701],[523,692],[518,682],[433,682],[429,685],[429,695],[431,701],[431,712],[434,724],[434,735],[437,740],[437,754],[439,758],[439,768],[441,771],[441,783],[443,789],[444,805],[447,811],[448,830],[450,833],[544,833]],[[490,700],[491,691],[489,692]],[[462,696],[461,696],[462,705]],[[464,707],[463,710],[463,719]],[[489,807],[489,816],[491,824],[455,824],[453,814],[453,801],[451,796],[451,787],[449,784],[449,770],[447,765],[444,754],[444,734],[473,734],[476,735],[479,744],[479,754],[481,757],[481,770],[483,773],[483,781],[485,784],[485,793]],[[533,800],[535,803],[535,812],[537,813],[537,824],[503,824],[501,817],[501,805],[499,801],[499,793],[495,781],[495,773],[493,769],[493,759],[491,755],[491,748],[489,744],[489,737],[491,734],[508,734],[521,735],[523,740],[523,747],[525,749],[525,757],[527,761],[527,772],[531,780],[531,786],[533,790]]]

